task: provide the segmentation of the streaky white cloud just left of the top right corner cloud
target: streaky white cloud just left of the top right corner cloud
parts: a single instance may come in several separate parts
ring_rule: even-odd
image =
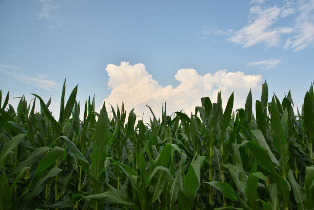
[[[278,46],[281,34],[292,32],[292,28],[289,27],[272,27],[280,14],[281,8],[276,5],[265,9],[261,6],[251,7],[249,24],[234,31],[228,41],[243,45],[243,47],[251,47],[260,43],[266,44],[267,47]]]

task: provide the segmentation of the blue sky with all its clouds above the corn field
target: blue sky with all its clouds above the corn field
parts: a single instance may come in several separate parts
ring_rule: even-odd
[[[56,119],[65,78],[82,108],[89,96],[98,111],[123,101],[144,120],[146,105],[190,114],[219,91],[244,107],[265,80],[269,100],[291,90],[300,109],[314,82],[314,0],[0,0],[0,29],[3,95],[14,107],[51,97]]]

